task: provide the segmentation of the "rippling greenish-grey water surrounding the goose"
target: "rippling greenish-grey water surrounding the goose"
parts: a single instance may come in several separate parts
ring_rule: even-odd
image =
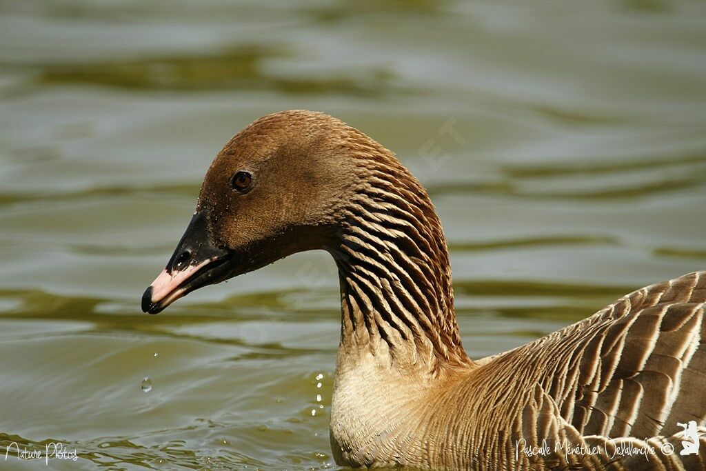
[[[335,468],[328,256],[139,306],[210,160],[268,112],[334,114],[424,182],[473,357],[706,268],[705,20],[665,0],[1,2],[0,447]]]

